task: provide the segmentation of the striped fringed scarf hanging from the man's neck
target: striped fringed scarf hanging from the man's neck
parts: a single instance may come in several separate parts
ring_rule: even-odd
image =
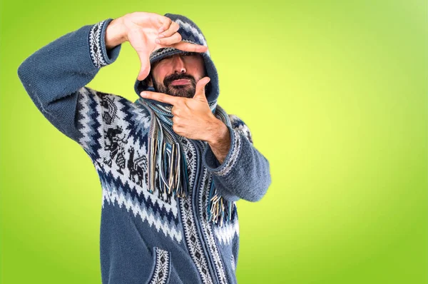
[[[139,98],[136,103],[146,106],[151,113],[148,137],[148,191],[153,193],[154,188],[156,188],[154,185],[156,182],[156,166],[158,166],[161,193],[172,193],[177,198],[188,196],[187,161],[183,146],[178,140],[177,134],[172,130],[172,106],[152,103],[143,98]],[[228,113],[217,105],[217,101],[208,104],[215,116],[231,127]],[[228,223],[231,219],[232,211],[233,201],[226,201],[223,196],[220,196],[214,186],[214,181],[211,181],[207,206],[208,222],[222,226],[223,223]]]

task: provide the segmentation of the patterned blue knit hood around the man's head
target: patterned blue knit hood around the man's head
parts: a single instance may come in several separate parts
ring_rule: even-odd
[[[200,44],[203,46],[207,46],[207,41],[205,40],[205,36],[203,36],[202,31],[196,26],[193,21],[186,18],[185,16],[177,15],[177,14],[165,14],[164,16],[170,18],[172,21],[175,21],[180,28],[178,29],[178,34],[181,35],[182,41],[190,42],[192,44]],[[185,53],[185,51],[181,51],[179,49],[174,49],[171,47],[157,49],[153,51],[150,56],[150,64],[152,65],[154,62],[159,61],[166,56],[170,56],[173,54],[181,54]],[[203,56],[203,61],[205,64],[205,70],[207,71],[207,76],[210,77],[210,82],[206,86],[205,95],[207,97],[208,103],[213,103],[217,101],[219,95],[218,88],[218,73],[217,69],[215,69],[214,63],[210,57],[210,51],[205,51],[204,53],[200,53]],[[140,81],[136,79],[136,83],[134,86],[136,94],[138,95],[138,99],[143,99],[146,101],[151,101],[152,103],[161,104],[163,106],[170,106],[169,103],[163,103],[160,101],[153,101],[149,98],[142,98],[140,93],[142,91],[154,91],[153,87],[148,86],[146,81]]]

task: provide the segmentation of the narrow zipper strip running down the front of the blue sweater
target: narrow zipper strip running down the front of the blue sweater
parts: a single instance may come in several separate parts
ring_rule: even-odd
[[[192,194],[192,206],[193,208],[195,208],[195,211],[193,212],[193,218],[195,218],[196,222],[196,229],[198,230],[198,235],[199,235],[199,239],[202,240],[201,243],[203,245],[203,248],[205,248],[206,253],[208,255],[208,265],[210,268],[210,272],[211,272],[211,278],[213,278],[213,280],[215,281],[215,283],[220,283],[220,280],[217,277],[217,272],[215,271],[215,265],[214,265],[214,260],[212,258],[212,255],[210,254],[210,249],[208,248],[207,245],[207,241],[205,240],[205,237],[203,235],[202,229],[200,228],[200,224],[198,222],[198,207],[196,204],[197,197],[198,197],[198,189],[200,186],[200,172],[202,169],[202,151],[200,151],[199,146],[197,146],[196,142],[193,142],[191,139],[188,139],[190,141],[190,143],[193,144],[193,146],[195,147],[195,151],[198,151],[198,154],[200,154],[200,159],[197,159],[198,162],[198,168],[196,171],[196,175],[195,175],[195,184],[193,185],[193,194]]]

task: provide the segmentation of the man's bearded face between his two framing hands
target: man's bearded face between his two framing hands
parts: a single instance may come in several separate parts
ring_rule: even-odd
[[[193,52],[174,54],[153,64],[151,74],[156,91],[193,98],[196,82],[205,76],[203,58]]]

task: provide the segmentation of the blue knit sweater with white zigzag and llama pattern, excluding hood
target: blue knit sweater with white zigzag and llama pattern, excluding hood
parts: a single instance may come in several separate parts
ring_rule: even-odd
[[[179,137],[188,161],[188,197],[149,192],[148,109],[86,86],[121,51],[121,45],[106,49],[110,21],[61,36],[18,69],[39,111],[86,151],[98,172],[102,282],[236,283],[236,201],[263,198],[271,183],[269,163],[253,146],[245,123],[229,115],[230,151],[221,165],[208,143]],[[234,204],[230,222],[221,226],[206,220],[211,183]]]

